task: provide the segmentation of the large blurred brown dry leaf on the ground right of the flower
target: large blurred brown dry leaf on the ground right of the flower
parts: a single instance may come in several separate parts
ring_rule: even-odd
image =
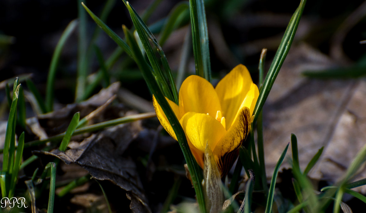
[[[334,67],[336,62],[303,44],[293,46],[264,107],[266,171],[273,169],[291,133],[298,139],[300,167],[324,146],[309,173],[336,182],[365,145],[366,83],[363,80],[319,80],[303,77],[305,70]],[[288,156],[291,155],[289,150]],[[289,165],[284,162],[282,168]],[[366,170],[362,175],[365,177]],[[362,190],[365,192],[365,190]]]

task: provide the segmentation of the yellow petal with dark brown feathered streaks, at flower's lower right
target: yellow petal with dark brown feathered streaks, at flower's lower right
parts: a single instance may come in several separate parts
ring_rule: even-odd
[[[249,133],[250,118],[248,107],[240,109],[238,117],[213,150],[213,155],[217,159],[217,166],[223,172],[223,175],[228,172],[236,157],[238,157],[238,148]]]

